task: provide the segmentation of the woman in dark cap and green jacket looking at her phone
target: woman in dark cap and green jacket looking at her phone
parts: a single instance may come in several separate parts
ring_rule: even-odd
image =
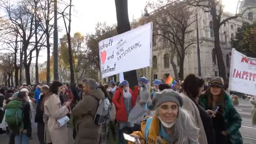
[[[223,89],[223,83],[219,78],[212,80],[210,88],[199,97],[198,103],[212,117],[216,143],[243,143],[243,138],[239,132],[242,122],[241,116]]]

